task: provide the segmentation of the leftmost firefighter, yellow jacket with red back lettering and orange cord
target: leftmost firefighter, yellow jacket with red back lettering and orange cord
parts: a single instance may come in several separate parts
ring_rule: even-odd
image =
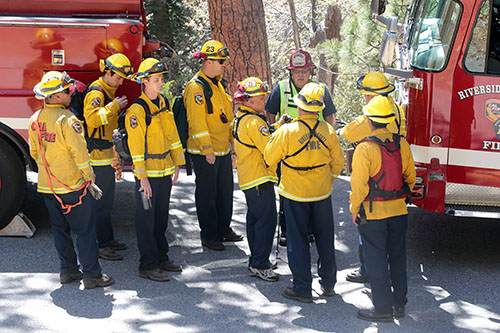
[[[83,125],[67,110],[73,80],[52,71],[42,77],[33,91],[45,107],[29,123],[30,154],[38,164],[38,192],[42,194],[52,224],[54,243],[61,262],[62,284],[80,280],[84,287],[105,287],[114,280],[101,274],[96,225],[92,219],[94,172],[90,165]],[[71,231],[76,234],[74,249]]]

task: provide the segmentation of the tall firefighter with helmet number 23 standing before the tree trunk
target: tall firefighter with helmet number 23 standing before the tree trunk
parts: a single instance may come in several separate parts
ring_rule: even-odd
[[[189,123],[187,152],[192,157],[196,175],[196,213],[202,245],[223,251],[222,241],[243,240],[230,227],[233,112],[222,77],[229,51],[220,42],[210,40],[194,57],[202,62],[202,67],[186,86],[184,105]]]

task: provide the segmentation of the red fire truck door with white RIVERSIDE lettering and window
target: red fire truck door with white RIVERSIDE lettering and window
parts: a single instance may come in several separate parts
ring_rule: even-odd
[[[500,2],[478,4],[454,74],[446,201],[500,205]]]

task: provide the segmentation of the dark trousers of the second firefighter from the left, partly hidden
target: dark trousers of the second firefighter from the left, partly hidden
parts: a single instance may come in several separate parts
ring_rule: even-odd
[[[94,218],[97,224],[99,247],[107,247],[115,236],[111,224],[111,210],[115,198],[115,169],[111,165],[93,166],[95,183],[102,190],[102,198],[94,200]]]

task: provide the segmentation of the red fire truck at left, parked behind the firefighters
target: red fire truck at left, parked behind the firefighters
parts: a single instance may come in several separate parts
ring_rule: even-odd
[[[0,229],[22,204],[26,166],[36,170],[28,148],[28,121],[42,107],[33,86],[44,72],[66,71],[90,83],[99,59],[124,53],[134,68],[159,47],[148,40],[142,0],[0,1]],[[127,82],[117,96],[132,101],[140,87]]]

